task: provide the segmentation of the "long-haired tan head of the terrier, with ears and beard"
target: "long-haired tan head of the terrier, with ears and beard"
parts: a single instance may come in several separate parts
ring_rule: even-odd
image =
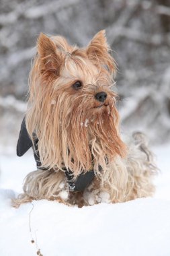
[[[42,166],[65,166],[76,175],[124,156],[112,91],[116,65],[105,32],[85,48],[40,34],[37,49],[26,125],[39,139]]]

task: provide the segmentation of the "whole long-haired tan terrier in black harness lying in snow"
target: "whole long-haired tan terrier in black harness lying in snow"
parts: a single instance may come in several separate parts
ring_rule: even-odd
[[[13,206],[48,199],[82,207],[153,195],[157,166],[145,135],[134,133],[127,144],[120,136],[115,74],[104,30],[84,48],[40,34],[17,143],[18,156],[33,148],[38,170]]]

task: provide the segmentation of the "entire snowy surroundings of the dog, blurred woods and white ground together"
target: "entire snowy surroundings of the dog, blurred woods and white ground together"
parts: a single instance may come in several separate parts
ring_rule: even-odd
[[[118,65],[121,132],[142,131],[157,156],[155,197],[81,209],[41,200],[15,210],[10,199],[35,170],[32,152],[21,159],[15,148],[38,35],[86,46],[103,29]],[[169,0],[0,0],[1,256],[169,256],[169,153]]]

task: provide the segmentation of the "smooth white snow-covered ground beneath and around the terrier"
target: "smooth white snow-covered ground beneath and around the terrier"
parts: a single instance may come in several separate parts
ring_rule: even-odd
[[[46,200],[12,208],[9,198],[36,165],[32,152],[1,155],[0,255],[34,256],[40,248],[43,256],[169,256],[170,146],[154,151],[161,170],[154,198],[81,209]]]

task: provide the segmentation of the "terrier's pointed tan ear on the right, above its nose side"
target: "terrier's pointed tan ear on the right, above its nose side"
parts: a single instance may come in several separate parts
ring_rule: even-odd
[[[99,31],[87,46],[87,55],[91,61],[100,62],[111,73],[116,72],[116,63],[110,55],[110,46],[105,37],[105,30]]]

